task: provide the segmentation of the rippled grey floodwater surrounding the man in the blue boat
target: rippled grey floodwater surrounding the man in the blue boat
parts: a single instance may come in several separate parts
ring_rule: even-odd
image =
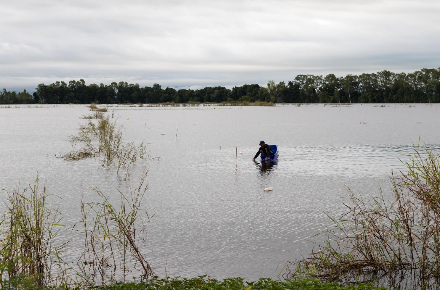
[[[99,160],[57,158],[72,149],[68,136],[86,122],[85,106],[0,108],[0,188],[25,187],[38,172],[71,226],[81,195],[95,198],[91,186],[117,200],[117,189],[134,188],[146,167],[144,208],[154,217],[142,249],[160,276],[166,267],[168,276],[275,278],[331,225],[323,211],[344,211],[345,186],[364,199],[379,186],[390,193],[387,174],[413,144],[440,149],[436,104],[112,109],[125,141],[147,141],[159,160],[139,161],[124,181]],[[278,161],[252,161],[260,140],[279,145]],[[68,260],[77,260],[79,245]]]

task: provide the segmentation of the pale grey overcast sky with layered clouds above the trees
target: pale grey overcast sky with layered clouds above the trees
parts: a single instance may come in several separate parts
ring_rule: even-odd
[[[0,0],[0,89],[232,87],[440,67],[440,1]]]

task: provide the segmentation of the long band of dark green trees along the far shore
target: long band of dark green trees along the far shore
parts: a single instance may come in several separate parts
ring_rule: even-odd
[[[333,73],[297,75],[293,81],[267,86],[245,84],[227,89],[205,87],[198,90],[172,87],[163,89],[155,83],[140,87],[127,82],[86,85],[84,80],[69,83],[56,81],[40,83],[33,94],[26,90],[0,91],[0,105],[14,104],[68,104],[79,103],[204,103],[266,101],[275,103],[419,103],[440,102],[440,68],[421,69],[413,73],[348,74],[337,77]]]

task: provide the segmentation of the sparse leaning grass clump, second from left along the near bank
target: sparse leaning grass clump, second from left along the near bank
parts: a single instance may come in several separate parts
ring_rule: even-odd
[[[141,202],[147,191],[145,184],[147,171],[142,175],[139,187],[124,195],[121,192],[121,205],[114,207],[98,188],[92,188],[100,201],[84,203],[81,200],[82,230],[84,234],[84,252],[78,264],[84,272],[99,272],[106,276],[107,270],[113,272],[129,271],[130,265],[136,266],[143,279],[154,276],[155,270],[139,250],[139,235],[146,237],[145,226],[149,221],[147,212],[141,210]],[[143,221],[145,214],[148,221]],[[139,228],[140,225],[140,228]],[[133,263],[134,262],[134,263]]]

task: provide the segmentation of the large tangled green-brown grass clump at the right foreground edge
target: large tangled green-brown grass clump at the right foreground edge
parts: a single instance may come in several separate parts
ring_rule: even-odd
[[[391,194],[380,191],[366,201],[349,188],[347,213],[327,216],[333,223],[310,257],[287,266],[286,274],[315,268],[330,281],[381,271],[415,270],[420,283],[440,274],[440,156],[427,146],[406,156],[405,168],[392,172]]]

